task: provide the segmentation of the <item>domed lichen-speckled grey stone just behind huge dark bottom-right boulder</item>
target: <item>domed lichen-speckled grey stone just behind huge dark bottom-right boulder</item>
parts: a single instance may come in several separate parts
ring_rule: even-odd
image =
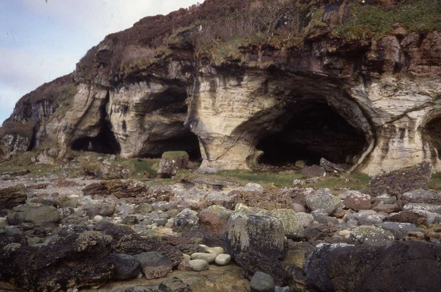
[[[359,226],[351,231],[348,243],[351,245],[389,245],[395,236],[389,230],[375,226]]]

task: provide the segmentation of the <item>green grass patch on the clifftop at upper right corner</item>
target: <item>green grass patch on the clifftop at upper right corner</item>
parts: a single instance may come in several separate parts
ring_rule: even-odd
[[[351,5],[351,19],[334,28],[334,36],[349,39],[381,38],[399,23],[408,30],[441,30],[441,0],[407,0],[392,8],[374,5]]]

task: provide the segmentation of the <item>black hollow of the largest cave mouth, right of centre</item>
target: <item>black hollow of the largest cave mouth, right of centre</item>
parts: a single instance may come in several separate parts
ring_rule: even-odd
[[[308,102],[289,109],[281,131],[260,139],[260,164],[289,166],[298,160],[319,165],[323,157],[335,164],[356,164],[367,148],[365,134],[351,126],[331,106]]]

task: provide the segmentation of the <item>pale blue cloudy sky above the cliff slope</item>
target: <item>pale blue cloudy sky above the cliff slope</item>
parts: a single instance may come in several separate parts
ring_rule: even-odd
[[[0,124],[26,93],[69,74],[107,34],[203,0],[0,0]]]

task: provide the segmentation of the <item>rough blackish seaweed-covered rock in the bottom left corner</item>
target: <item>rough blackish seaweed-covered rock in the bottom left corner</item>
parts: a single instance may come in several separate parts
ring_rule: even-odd
[[[45,247],[6,245],[0,252],[0,278],[30,291],[65,291],[112,278],[112,238],[84,232],[59,238]]]

